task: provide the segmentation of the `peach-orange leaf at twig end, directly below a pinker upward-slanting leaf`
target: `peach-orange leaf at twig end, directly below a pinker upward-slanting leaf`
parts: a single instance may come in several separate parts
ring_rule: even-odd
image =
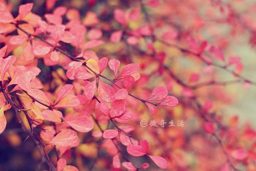
[[[78,98],[72,94],[68,94],[66,97],[62,98],[56,105],[56,108],[68,108],[76,107],[80,104]]]

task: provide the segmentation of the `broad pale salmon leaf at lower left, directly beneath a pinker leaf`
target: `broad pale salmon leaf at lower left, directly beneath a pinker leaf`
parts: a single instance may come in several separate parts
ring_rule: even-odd
[[[62,130],[58,133],[49,144],[59,145],[59,146],[70,146],[78,141],[78,136],[75,131],[67,129]]]

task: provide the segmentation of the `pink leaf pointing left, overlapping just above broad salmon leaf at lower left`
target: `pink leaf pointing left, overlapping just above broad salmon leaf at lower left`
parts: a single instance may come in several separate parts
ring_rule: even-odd
[[[76,131],[87,133],[93,129],[94,123],[93,121],[88,118],[87,116],[78,117],[75,120],[67,121],[66,122],[73,127]]]

